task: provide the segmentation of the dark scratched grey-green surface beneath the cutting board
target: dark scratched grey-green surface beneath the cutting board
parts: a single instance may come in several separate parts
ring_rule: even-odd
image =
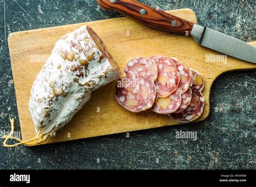
[[[160,10],[191,8],[199,24],[255,40],[253,0],[141,2]],[[10,130],[11,116],[19,131],[10,33],[120,16],[89,0],[0,0],[0,130]],[[130,138],[122,133],[32,148],[0,146],[0,169],[255,169],[255,84],[255,71],[220,76],[212,87],[211,114],[200,123],[131,132]],[[197,140],[176,139],[179,130],[196,131]]]

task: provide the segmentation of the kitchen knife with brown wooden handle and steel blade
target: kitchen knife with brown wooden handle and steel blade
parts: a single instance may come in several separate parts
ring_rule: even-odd
[[[135,0],[97,0],[104,10],[116,10],[141,23],[163,31],[191,35],[201,46],[256,63],[256,47]]]

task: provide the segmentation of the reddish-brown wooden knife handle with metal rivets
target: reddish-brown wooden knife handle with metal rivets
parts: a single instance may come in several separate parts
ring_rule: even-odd
[[[97,0],[104,10],[116,10],[141,23],[160,30],[190,34],[193,23],[152,8],[135,0]]]

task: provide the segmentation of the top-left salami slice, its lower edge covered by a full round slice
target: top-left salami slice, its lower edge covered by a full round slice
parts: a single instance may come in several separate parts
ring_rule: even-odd
[[[127,78],[146,78],[152,81],[157,80],[157,71],[156,63],[147,57],[130,60],[124,69]]]

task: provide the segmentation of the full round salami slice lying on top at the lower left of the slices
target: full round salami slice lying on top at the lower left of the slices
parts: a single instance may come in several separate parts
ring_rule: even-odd
[[[124,82],[127,81],[125,84]],[[134,83],[131,83],[134,81]],[[129,85],[129,86],[125,86]],[[156,100],[156,87],[152,80],[120,78],[116,86],[116,100],[126,110],[140,112],[150,109]]]

